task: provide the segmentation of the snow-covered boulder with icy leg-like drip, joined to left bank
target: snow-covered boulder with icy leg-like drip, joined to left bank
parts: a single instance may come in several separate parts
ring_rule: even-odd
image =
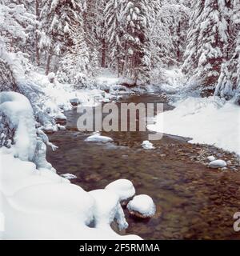
[[[128,227],[118,194],[110,190],[93,190],[89,194],[95,199],[94,220],[96,227],[109,229],[114,219],[118,223],[119,230]]]

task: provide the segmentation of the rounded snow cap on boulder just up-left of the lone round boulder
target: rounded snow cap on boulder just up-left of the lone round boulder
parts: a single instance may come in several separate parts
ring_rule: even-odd
[[[133,183],[124,178],[111,182],[105,189],[118,194],[120,202],[133,197],[135,194]]]

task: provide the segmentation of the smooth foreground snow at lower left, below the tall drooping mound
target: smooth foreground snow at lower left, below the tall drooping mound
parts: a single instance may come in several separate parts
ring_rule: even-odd
[[[115,214],[126,227],[117,194],[99,193],[98,197],[87,193],[50,170],[37,170],[33,162],[14,158],[12,153],[5,147],[0,149],[0,203],[5,218],[2,239],[140,239],[120,236],[109,225],[88,226],[94,216],[102,223]],[[107,216],[107,212],[113,215]]]

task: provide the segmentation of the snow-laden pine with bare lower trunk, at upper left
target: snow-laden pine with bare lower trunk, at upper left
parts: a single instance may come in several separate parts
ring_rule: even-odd
[[[64,53],[73,45],[73,36],[82,26],[82,0],[44,0],[40,14],[39,48],[46,50],[46,74],[53,55]]]

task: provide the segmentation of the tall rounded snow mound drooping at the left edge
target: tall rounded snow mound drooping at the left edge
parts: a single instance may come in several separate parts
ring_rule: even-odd
[[[15,156],[22,160],[34,158],[37,143],[34,112],[28,99],[15,92],[0,93],[0,114],[6,115],[14,129]]]

